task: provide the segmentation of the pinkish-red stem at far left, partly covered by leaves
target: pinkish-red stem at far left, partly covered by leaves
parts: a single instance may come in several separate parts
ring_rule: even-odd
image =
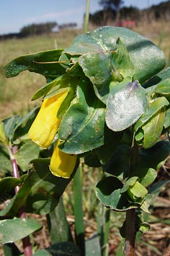
[[[14,157],[15,153],[17,152],[18,147],[14,146],[10,148],[10,160],[11,160],[11,164],[12,164],[12,175],[15,178],[19,178],[19,171],[18,171],[18,164],[16,162],[16,159]],[[15,193],[18,193],[19,191],[19,186],[15,187]],[[25,208],[21,207],[19,209],[19,217],[20,218],[26,218],[26,213],[25,213]],[[24,248],[24,256],[31,256],[32,255],[32,246],[31,246],[31,242],[29,240],[29,236],[24,237],[22,239],[23,242],[23,248]]]

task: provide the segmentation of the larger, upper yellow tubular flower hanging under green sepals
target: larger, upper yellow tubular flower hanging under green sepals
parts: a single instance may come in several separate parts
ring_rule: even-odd
[[[66,95],[67,91],[42,102],[40,111],[28,131],[28,138],[39,146],[46,148],[52,143],[60,122],[57,112]]]

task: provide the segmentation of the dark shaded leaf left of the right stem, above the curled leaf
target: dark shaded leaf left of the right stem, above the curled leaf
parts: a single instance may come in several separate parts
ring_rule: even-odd
[[[125,144],[121,144],[109,162],[104,164],[103,170],[108,172],[108,174],[125,178],[129,172],[130,156],[131,148]]]

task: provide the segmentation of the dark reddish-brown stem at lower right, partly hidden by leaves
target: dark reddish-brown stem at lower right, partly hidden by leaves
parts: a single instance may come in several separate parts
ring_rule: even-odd
[[[130,159],[130,173],[133,171],[135,164],[138,161],[138,145],[134,142],[133,148],[131,148]],[[127,210],[126,212],[126,225],[125,225],[125,255],[135,255],[135,209]]]

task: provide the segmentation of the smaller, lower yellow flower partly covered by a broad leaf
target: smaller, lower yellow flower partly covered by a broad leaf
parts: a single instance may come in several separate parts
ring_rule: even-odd
[[[55,176],[69,179],[74,170],[77,155],[62,152],[59,150],[58,144],[59,140],[50,161],[50,171]]]

